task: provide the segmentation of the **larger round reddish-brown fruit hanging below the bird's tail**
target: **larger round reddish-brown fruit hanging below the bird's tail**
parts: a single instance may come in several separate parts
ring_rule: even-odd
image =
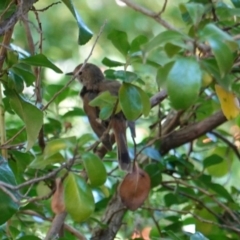
[[[151,180],[148,174],[135,164],[119,186],[119,195],[123,204],[130,210],[138,209],[148,197]]]

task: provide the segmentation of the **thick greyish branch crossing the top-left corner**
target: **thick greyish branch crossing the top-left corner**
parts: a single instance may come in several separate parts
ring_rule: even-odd
[[[17,11],[8,19],[0,23],[0,36],[5,34],[9,29],[13,28],[16,22],[25,15],[32,5],[37,2],[37,0],[22,1],[23,4],[18,4]]]

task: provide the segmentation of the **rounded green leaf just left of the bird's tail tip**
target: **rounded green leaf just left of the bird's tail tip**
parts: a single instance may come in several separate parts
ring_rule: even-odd
[[[102,160],[91,152],[83,154],[82,160],[91,186],[98,187],[103,185],[107,179],[107,172]]]

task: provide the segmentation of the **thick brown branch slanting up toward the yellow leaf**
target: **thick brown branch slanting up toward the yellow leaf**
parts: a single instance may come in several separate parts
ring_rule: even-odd
[[[178,131],[174,131],[166,137],[163,137],[160,152],[164,155],[169,150],[202,136],[226,121],[227,119],[223,115],[222,111],[220,111],[201,122],[194,123]]]

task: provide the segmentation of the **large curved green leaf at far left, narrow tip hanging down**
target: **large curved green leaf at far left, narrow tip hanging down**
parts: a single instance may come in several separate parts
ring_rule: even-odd
[[[15,91],[6,90],[5,95],[9,97],[12,109],[25,123],[27,131],[26,151],[28,151],[34,145],[43,125],[43,112]]]

